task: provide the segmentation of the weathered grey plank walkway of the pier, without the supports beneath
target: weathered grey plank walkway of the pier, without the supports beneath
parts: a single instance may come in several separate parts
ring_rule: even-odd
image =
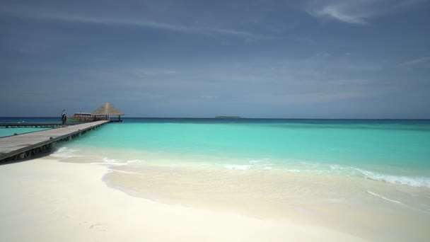
[[[88,132],[95,127],[104,125],[108,120],[88,122],[81,125],[61,127],[57,129],[47,129],[40,132],[18,134],[0,138],[0,161],[11,156],[16,156],[25,151],[35,149],[40,146],[57,142],[67,137]]]

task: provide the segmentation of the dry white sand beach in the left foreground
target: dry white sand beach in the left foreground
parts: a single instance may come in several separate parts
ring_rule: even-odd
[[[0,166],[0,241],[364,241],[286,220],[160,204],[108,188],[105,166]]]

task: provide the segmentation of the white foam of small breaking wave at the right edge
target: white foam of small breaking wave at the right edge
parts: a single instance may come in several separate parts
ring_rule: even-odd
[[[359,168],[355,168],[356,171],[363,174],[366,178],[371,180],[383,181],[385,183],[392,183],[398,185],[409,185],[417,188],[430,188],[430,178],[423,177],[409,177],[404,175],[385,175],[379,173],[373,173],[371,171],[364,171]]]

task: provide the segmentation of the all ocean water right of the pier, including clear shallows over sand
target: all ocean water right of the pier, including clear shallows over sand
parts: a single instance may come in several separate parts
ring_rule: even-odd
[[[51,156],[106,166],[108,186],[158,202],[430,238],[430,120],[129,118]]]

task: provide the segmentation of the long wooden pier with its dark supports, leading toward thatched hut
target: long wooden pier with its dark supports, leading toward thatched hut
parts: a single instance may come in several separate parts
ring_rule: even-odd
[[[27,159],[37,154],[42,154],[58,142],[64,142],[88,131],[97,129],[109,120],[87,122],[81,125],[47,129],[40,132],[31,132],[0,138],[0,163],[4,161],[16,161]]]

